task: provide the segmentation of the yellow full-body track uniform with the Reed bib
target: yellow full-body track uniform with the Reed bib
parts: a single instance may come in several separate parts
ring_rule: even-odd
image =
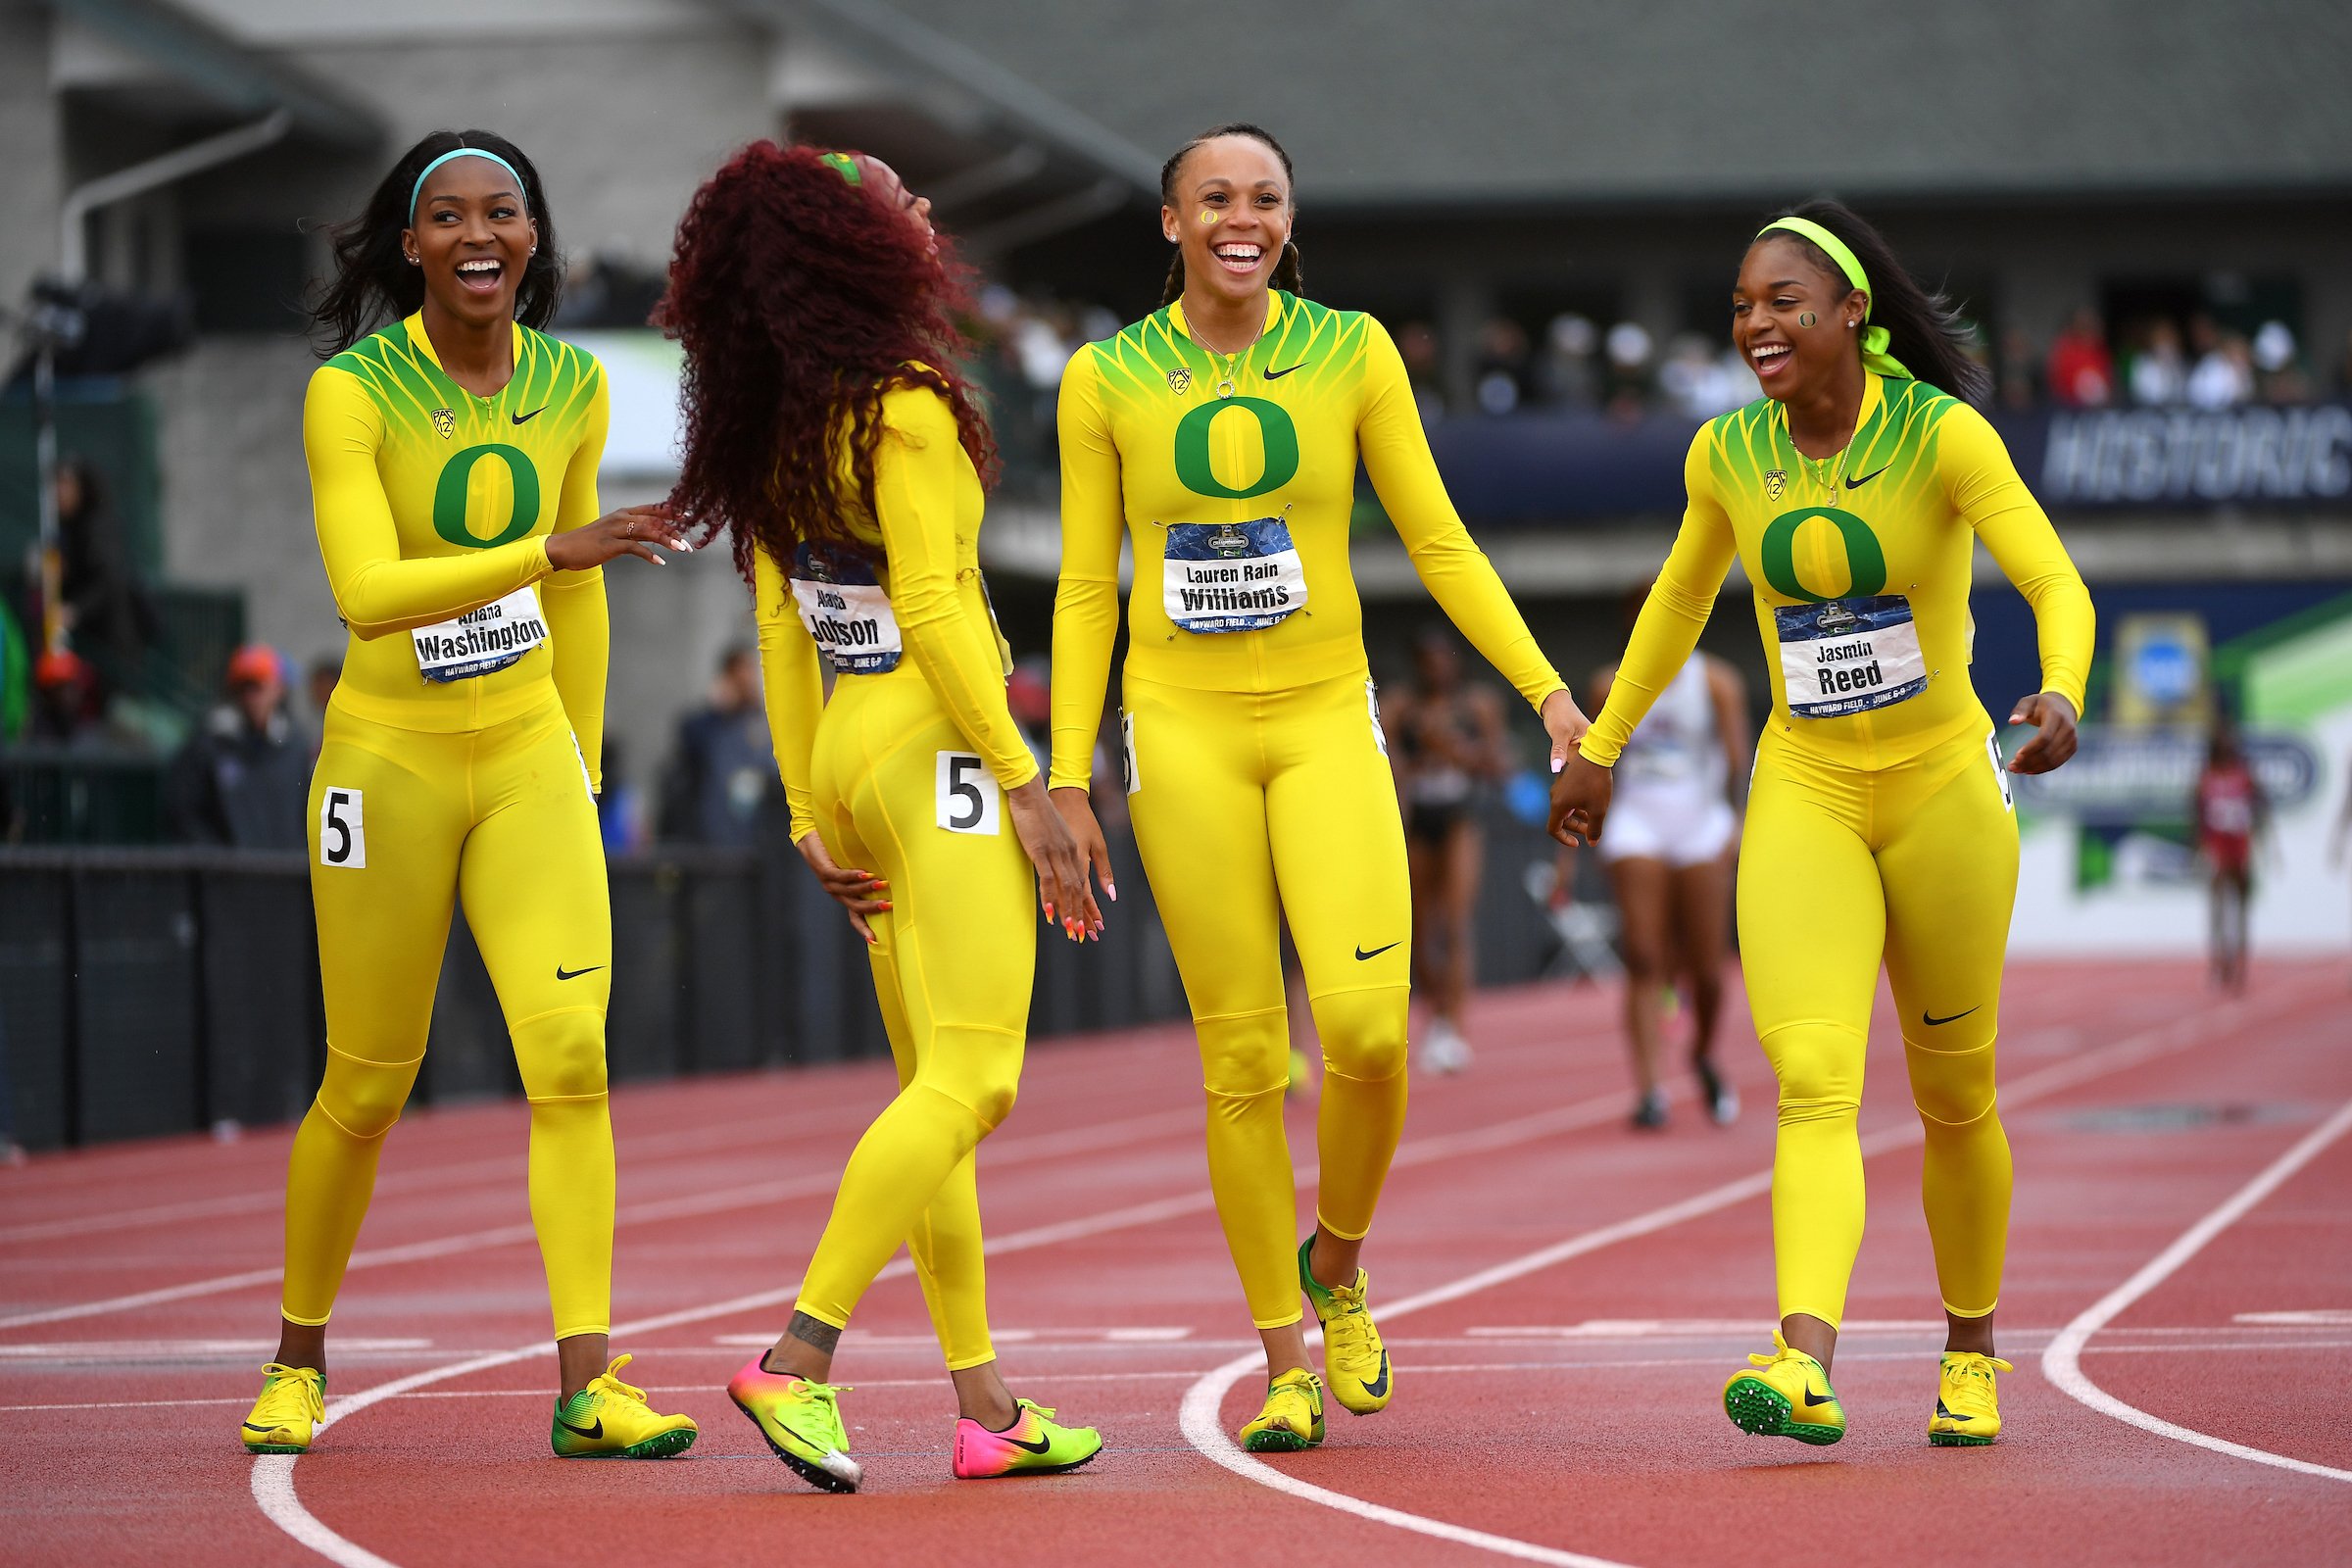
[[[1992,1312],[2009,1138],[1992,1091],[2018,886],[2009,783],[1969,684],[1973,545],[2034,609],[2042,689],[2082,710],[2091,595],[1985,418],[1867,376],[1853,442],[1811,461],[1764,397],[1710,421],[1689,510],[1583,752],[1609,766],[1689,658],[1738,550],[1776,661],[1740,842],[1740,959],[1780,1079],[1780,1314],[1837,1324],[1863,1239],[1856,1114],[1879,961],[1926,1126],[1945,1309]],[[1604,827],[1606,832],[1606,827]]]

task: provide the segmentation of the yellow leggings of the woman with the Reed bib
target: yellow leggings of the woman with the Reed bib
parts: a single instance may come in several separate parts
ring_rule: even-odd
[[[1740,961],[1780,1079],[1771,1222],[1780,1316],[1837,1324],[1863,1244],[1863,1048],[1879,959],[1926,1128],[1919,1197],[1943,1305],[1985,1316],[2009,1246],[1992,1039],[2018,820],[1990,724],[1858,771],[1766,729],[1740,842]]]

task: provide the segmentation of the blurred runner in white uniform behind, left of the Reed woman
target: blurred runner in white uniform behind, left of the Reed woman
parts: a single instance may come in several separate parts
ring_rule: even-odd
[[[1597,677],[1606,701],[1616,668]],[[1625,1039],[1632,1046],[1637,1128],[1665,1126],[1658,1088],[1661,997],[1682,983],[1691,1006],[1691,1070],[1717,1126],[1740,1100],[1715,1070],[1731,926],[1733,764],[1748,769],[1748,698],[1738,672],[1691,654],[1635,726],[1616,764],[1609,835],[1597,844],[1616,886],[1625,950]]]

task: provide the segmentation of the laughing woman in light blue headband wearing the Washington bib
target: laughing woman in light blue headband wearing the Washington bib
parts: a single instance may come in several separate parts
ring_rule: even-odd
[[[310,776],[310,898],[327,1074],[287,1168],[285,1328],[245,1420],[303,1453],[327,1314],[416,1081],[449,905],[499,987],[532,1103],[532,1225],[555,1307],[562,1458],[694,1441],[607,1366],[612,903],[597,837],[602,564],[680,534],[597,515],[602,367],[536,329],[562,261],[539,172],[503,136],[433,132],[336,233],[313,320],[332,357],[303,400],[318,548],[350,628]],[[362,329],[393,317],[381,331]]]

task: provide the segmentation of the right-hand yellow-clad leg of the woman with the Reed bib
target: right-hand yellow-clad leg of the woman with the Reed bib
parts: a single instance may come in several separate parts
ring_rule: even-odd
[[[1912,1103],[1926,1128],[1919,1199],[1952,1349],[1990,1356],[2011,1185],[1992,1041],[2018,891],[2018,820],[1980,738],[1959,745],[1957,766],[1938,752],[1915,769],[1926,799],[1889,799],[1882,818],[1886,978],[1903,1020]]]

